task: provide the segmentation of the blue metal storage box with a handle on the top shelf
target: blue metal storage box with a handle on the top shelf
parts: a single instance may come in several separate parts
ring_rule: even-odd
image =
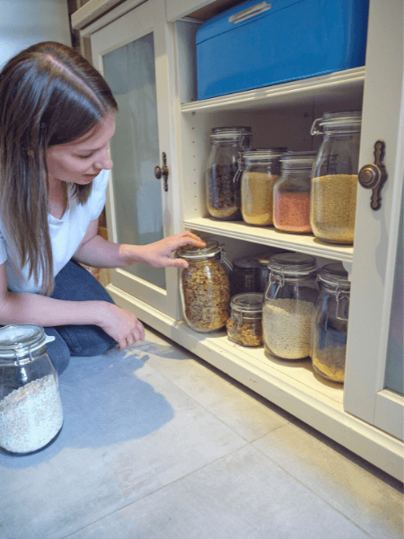
[[[369,0],[247,0],[197,34],[198,99],[364,66]]]

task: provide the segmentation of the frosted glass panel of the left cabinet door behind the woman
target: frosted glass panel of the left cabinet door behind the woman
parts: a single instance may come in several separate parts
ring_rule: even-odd
[[[118,242],[144,245],[161,240],[161,183],[153,33],[103,57],[104,76],[118,102],[110,153]],[[163,268],[136,264],[132,275],[165,289]]]

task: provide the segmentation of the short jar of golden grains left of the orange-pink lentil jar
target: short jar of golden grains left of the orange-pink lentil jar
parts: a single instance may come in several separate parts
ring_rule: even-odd
[[[287,148],[245,150],[239,163],[242,173],[242,218],[257,226],[273,224],[273,190],[280,175],[279,157]]]

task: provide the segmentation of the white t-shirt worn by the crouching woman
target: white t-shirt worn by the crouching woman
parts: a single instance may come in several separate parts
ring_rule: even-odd
[[[101,171],[92,181],[92,192],[85,204],[78,204],[69,195],[66,212],[61,219],[48,214],[55,277],[77,251],[90,222],[101,215],[105,205],[105,190],[109,179],[110,171]],[[20,267],[15,247],[4,230],[0,218],[0,264],[4,262],[7,270],[7,287],[10,290],[13,292],[40,292],[42,272],[40,271],[39,283],[35,282],[33,276],[28,278],[28,267]]]

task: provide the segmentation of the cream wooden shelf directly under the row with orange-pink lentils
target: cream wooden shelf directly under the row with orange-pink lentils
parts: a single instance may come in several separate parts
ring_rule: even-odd
[[[199,217],[184,221],[185,228],[208,234],[224,235],[250,243],[271,245],[289,251],[305,252],[336,261],[352,263],[354,247],[352,245],[334,245],[323,243],[312,234],[287,234],[274,227],[261,228],[246,225],[242,221],[219,221],[212,217]]]

